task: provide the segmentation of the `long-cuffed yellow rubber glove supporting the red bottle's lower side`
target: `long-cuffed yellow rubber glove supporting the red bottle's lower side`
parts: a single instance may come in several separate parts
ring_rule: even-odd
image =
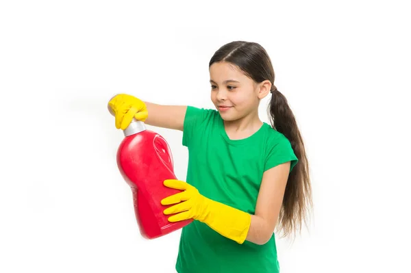
[[[249,213],[210,200],[202,196],[197,188],[184,181],[167,179],[164,185],[184,191],[161,200],[162,205],[177,204],[164,210],[166,215],[177,213],[169,217],[170,222],[193,218],[207,224],[214,231],[238,244],[245,241],[251,224]]]

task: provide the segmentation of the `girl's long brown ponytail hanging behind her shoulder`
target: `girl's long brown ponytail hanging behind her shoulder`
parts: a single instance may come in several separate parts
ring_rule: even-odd
[[[298,158],[297,165],[292,168],[288,176],[279,212],[279,228],[282,229],[285,237],[297,229],[301,231],[302,222],[307,224],[307,212],[309,207],[312,207],[310,172],[303,139],[288,101],[275,86],[272,86],[271,93],[269,103],[271,126],[290,141],[292,150]]]

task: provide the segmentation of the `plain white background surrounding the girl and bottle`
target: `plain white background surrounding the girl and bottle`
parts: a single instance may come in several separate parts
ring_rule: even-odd
[[[0,272],[175,272],[179,232],[140,237],[107,102],[212,107],[232,40],[269,52],[310,160],[314,218],[277,242],[282,272],[411,272],[407,2],[1,1]],[[182,133],[150,129],[185,179]]]

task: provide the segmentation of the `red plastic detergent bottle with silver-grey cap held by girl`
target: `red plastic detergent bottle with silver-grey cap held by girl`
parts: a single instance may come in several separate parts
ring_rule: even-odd
[[[144,122],[135,120],[124,130],[125,138],[117,151],[121,175],[132,188],[134,211],[142,237],[154,239],[190,224],[192,219],[169,222],[163,211],[171,205],[161,205],[167,196],[180,190],[164,186],[165,179],[177,179],[173,156],[164,138],[146,129]]]

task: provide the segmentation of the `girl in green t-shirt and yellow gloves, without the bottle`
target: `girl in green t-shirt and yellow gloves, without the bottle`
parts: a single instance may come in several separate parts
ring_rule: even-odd
[[[109,102],[116,128],[132,118],[183,131],[189,159],[182,192],[162,200],[170,222],[195,219],[182,229],[179,273],[279,272],[275,226],[301,229],[311,205],[308,161],[297,122],[274,86],[269,55],[255,42],[230,42],[209,64],[214,109],[158,105],[128,94]],[[271,94],[270,94],[271,93]],[[258,116],[271,95],[272,127]]]

